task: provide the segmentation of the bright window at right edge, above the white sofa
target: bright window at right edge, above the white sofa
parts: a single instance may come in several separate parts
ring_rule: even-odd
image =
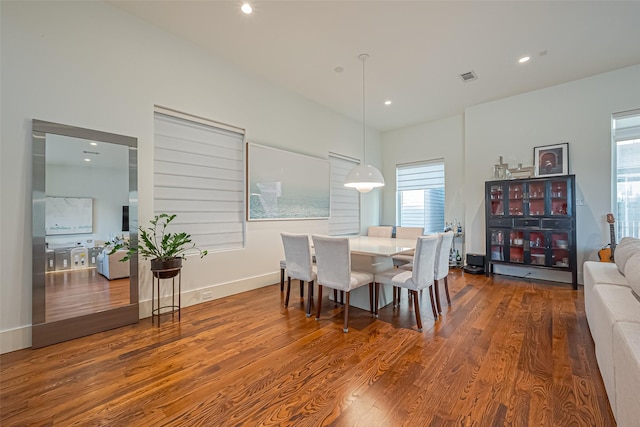
[[[640,237],[640,110],[613,115],[616,237]]]

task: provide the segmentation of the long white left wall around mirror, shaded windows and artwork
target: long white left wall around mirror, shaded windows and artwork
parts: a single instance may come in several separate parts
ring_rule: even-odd
[[[138,138],[140,223],[153,214],[153,107],[246,129],[247,140],[326,158],[362,157],[362,127],[297,94],[235,69],[199,48],[100,2],[0,2],[2,217],[0,351],[30,346],[31,120]],[[367,161],[380,165],[380,134],[367,130]],[[362,227],[379,222],[380,192],[362,196]],[[326,220],[251,222],[243,250],[189,259],[183,302],[279,280],[280,231],[326,233]],[[141,316],[151,279],[141,263]],[[274,307],[274,310],[277,310]]]

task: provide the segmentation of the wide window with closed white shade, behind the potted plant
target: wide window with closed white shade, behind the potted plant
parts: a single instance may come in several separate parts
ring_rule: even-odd
[[[244,131],[156,107],[154,211],[201,249],[244,247]]]

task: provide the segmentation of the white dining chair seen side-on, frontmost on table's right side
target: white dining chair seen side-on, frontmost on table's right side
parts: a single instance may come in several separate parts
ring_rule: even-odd
[[[440,240],[442,240],[442,236],[440,235],[418,237],[416,252],[413,257],[412,270],[393,268],[381,273],[376,273],[374,278],[374,307],[376,307],[376,315],[380,284],[383,284],[397,286],[399,288],[406,288],[409,290],[410,296],[413,297],[413,306],[419,331],[422,331],[422,319],[420,317],[420,296],[418,294],[418,291],[422,291],[423,289],[429,290],[429,298],[431,300],[431,310],[433,311],[433,318],[435,320],[438,319],[438,313],[436,311],[436,305],[433,298],[433,283],[435,281],[434,272],[436,264],[436,252]]]

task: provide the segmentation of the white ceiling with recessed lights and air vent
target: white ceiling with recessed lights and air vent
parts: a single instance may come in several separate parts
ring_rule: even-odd
[[[368,53],[380,131],[640,64],[640,1],[248,1],[109,3],[358,121]]]

